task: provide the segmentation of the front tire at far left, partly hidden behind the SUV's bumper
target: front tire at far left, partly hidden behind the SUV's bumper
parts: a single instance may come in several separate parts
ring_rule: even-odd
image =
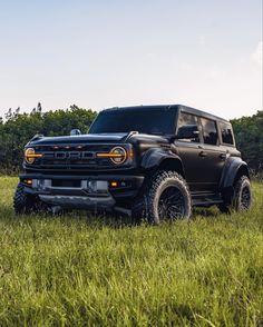
[[[25,187],[21,182],[18,184],[13,196],[13,209],[17,215],[38,212],[40,201],[36,196],[25,192]]]

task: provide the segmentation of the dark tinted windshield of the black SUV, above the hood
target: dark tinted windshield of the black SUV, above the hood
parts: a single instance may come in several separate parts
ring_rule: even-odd
[[[115,109],[103,111],[89,133],[129,132],[165,135],[174,132],[175,109]]]

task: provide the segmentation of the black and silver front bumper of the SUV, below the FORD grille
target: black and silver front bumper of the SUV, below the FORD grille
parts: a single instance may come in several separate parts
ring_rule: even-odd
[[[135,198],[144,182],[144,176],[126,175],[21,174],[19,177],[25,192],[37,195],[49,205],[64,208],[113,208],[118,202]],[[117,182],[118,187],[110,187],[111,181]]]

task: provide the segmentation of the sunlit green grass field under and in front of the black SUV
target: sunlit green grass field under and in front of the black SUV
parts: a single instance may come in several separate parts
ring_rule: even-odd
[[[21,216],[0,178],[0,326],[263,326],[263,185],[250,212]]]

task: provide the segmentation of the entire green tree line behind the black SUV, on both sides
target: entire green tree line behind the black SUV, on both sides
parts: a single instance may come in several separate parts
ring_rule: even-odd
[[[23,147],[37,133],[45,136],[69,135],[76,128],[87,132],[97,112],[76,105],[67,110],[42,112],[38,103],[30,113],[21,113],[20,108],[9,109],[4,119],[0,118],[0,171],[18,171],[21,168]],[[263,111],[252,117],[232,121],[236,146],[250,168],[263,172]]]

